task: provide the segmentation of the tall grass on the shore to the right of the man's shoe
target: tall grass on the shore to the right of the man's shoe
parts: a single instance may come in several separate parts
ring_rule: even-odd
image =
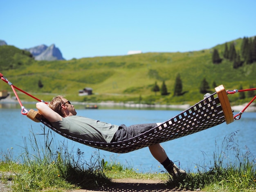
[[[208,167],[197,165],[197,173],[191,172],[176,181],[170,179],[169,185],[190,190],[204,188],[207,191],[255,191],[256,159],[247,147],[245,154],[241,152],[238,141],[234,139],[236,133],[226,136],[220,148],[216,143],[213,163],[210,162]]]

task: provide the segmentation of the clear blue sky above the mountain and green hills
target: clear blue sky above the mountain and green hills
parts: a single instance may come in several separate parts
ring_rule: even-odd
[[[63,57],[185,52],[256,36],[256,0],[0,0],[0,40]]]

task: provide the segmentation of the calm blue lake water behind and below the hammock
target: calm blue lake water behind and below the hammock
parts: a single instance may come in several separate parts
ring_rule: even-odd
[[[140,124],[164,122],[181,111],[171,110],[140,110],[140,109],[77,109],[77,114],[87,116],[112,124]],[[38,141],[43,143],[43,133],[41,123],[31,121],[26,116],[20,114],[20,109],[15,107],[0,108],[0,158],[7,150],[12,149],[13,156],[17,157],[22,153],[24,147],[24,138],[29,138],[31,127]],[[48,130],[48,127],[46,127]],[[167,155],[176,164],[180,163],[180,167],[185,170],[195,171],[197,164],[209,164],[213,161],[213,152],[217,152],[216,145],[221,148],[222,141],[225,136],[229,136],[232,132],[236,132],[234,141],[238,142],[240,151],[245,154],[248,150],[256,157],[256,113],[245,112],[242,118],[234,123],[227,125],[222,123],[216,127],[207,130],[177,138],[172,141],[162,143]],[[90,162],[91,156],[95,152],[106,161],[116,161],[124,166],[133,167],[138,172],[160,172],[164,170],[151,156],[148,147],[129,152],[126,154],[115,154],[103,150],[97,150],[80,143],[68,140],[58,134],[54,134],[56,143],[68,143],[68,147],[74,151],[77,148],[84,152],[83,158]],[[12,147],[12,148],[11,148]],[[2,152],[1,152],[2,150]],[[230,161],[232,156],[230,156]]]

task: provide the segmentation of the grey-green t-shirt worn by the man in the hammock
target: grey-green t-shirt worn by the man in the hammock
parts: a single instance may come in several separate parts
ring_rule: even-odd
[[[52,125],[61,132],[88,141],[108,142],[112,140],[118,125],[104,123],[82,116],[67,116]]]

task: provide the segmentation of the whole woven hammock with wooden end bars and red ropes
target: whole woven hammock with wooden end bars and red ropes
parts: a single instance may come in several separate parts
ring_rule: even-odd
[[[189,109],[186,109],[184,112],[176,115],[175,117],[169,119],[161,125],[154,127],[148,130],[147,132],[144,132],[143,134],[137,135],[128,140],[113,143],[104,143],[83,140],[81,138],[76,138],[73,136],[69,136],[63,132],[60,132],[55,127],[53,127],[51,123],[49,123],[38,112],[34,111],[33,109],[27,111],[27,109],[25,109],[20,99],[18,98],[15,89],[18,89],[20,92],[25,93],[38,101],[43,102],[43,100],[39,100],[38,98],[28,94],[22,89],[19,89],[18,87],[12,85],[12,83],[9,82],[7,78],[5,78],[1,73],[0,78],[4,82],[8,83],[8,85],[10,85],[13,89],[13,92],[16,98],[18,99],[18,102],[20,103],[22,109],[21,114],[26,115],[33,121],[43,123],[53,131],[73,141],[115,153],[128,153],[134,150],[141,149],[143,147],[147,147],[157,143],[163,143],[165,141],[170,141],[175,138],[180,138],[182,136],[200,132],[202,130],[214,127],[216,125],[220,125],[224,122],[226,122],[227,124],[232,123],[234,120],[240,119],[245,109],[256,99],[256,96],[254,96],[254,98],[247,104],[247,106],[239,114],[233,116],[233,112],[231,110],[227,94],[252,91],[256,90],[256,88],[241,90],[236,89],[234,91],[227,90],[226,92],[224,86],[220,85],[215,88],[215,93],[209,95],[207,98],[204,98],[199,103],[196,103]]]

